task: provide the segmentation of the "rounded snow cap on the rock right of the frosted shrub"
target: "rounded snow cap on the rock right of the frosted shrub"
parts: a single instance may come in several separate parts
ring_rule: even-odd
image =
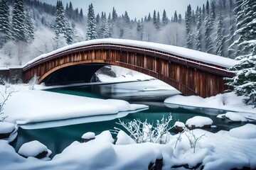
[[[213,120],[207,117],[203,116],[195,116],[193,118],[190,118],[186,120],[186,125],[188,125],[188,128],[203,128],[206,125],[212,125]]]

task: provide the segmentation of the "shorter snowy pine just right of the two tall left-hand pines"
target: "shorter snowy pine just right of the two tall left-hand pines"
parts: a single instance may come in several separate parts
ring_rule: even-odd
[[[34,37],[34,26],[31,15],[26,12],[26,21],[25,21],[25,27],[26,27],[26,42],[32,42]]]

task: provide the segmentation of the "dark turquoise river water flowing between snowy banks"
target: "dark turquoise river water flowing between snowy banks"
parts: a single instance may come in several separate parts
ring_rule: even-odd
[[[69,88],[49,89],[55,93],[73,94],[78,96],[89,96],[94,98],[119,98],[129,101],[129,103],[139,103],[149,106],[148,110],[138,113],[131,113],[123,118],[120,118],[125,123],[134,119],[142,121],[147,120],[149,123],[156,125],[156,120],[161,120],[163,116],[167,118],[170,114],[173,120],[170,126],[179,120],[186,123],[188,118],[193,118],[196,115],[207,116],[213,120],[213,125],[217,128],[208,129],[210,132],[218,132],[219,130],[230,130],[245,123],[230,123],[228,120],[216,118],[216,115],[225,113],[225,111],[207,109],[207,108],[192,108],[182,107],[176,105],[165,104],[163,101],[166,97],[176,94],[174,90],[154,90],[143,91],[142,89],[149,89],[151,81],[137,81],[120,84],[102,84],[102,85],[85,85]],[[151,88],[154,88],[152,84]],[[100,118],[100,116],[99,116]],[[102,120],[94,123],[80,123],[78,125],[66,125],[58,128],[43,128],[37,130],[23,130],[19,128],[18,138],[14,142],[16,150],[21,147],[24,142],[31,140],[38,140],[46,145],[52,152],[52,157],[58,154],[70,145],[73,141],[80,141],[80,137],[85,132],[95,132],[100,134],[104,130],[114,130],[114,127],[122,128],[117,125],[118,119]],[[176,133],[174,129],[171,133]],[[114,135],[113,135],[114,136]]]

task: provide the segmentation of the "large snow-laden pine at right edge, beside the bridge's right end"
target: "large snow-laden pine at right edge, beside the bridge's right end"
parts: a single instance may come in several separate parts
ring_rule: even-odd
[[[256,1],[237,1],[237,35],[240,56],[236,57],[240,63],[231,70],[235,77],[228,79],[228,85],[234,87],[235,94],[245,96],[243,99],[247,104],[256,106]]]

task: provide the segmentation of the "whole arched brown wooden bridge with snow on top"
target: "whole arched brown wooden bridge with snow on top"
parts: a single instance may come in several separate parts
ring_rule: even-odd
[[[228,64],[227,64],[228,63]],[[134,40],[102,39],[80,42],[42,55],[23,67],[24,81],[35,74],[47,84],[88,82],[104,65],[142,72],[184,95],[202,97],[222,93],[223,77],[233,60],[171,45]]]

